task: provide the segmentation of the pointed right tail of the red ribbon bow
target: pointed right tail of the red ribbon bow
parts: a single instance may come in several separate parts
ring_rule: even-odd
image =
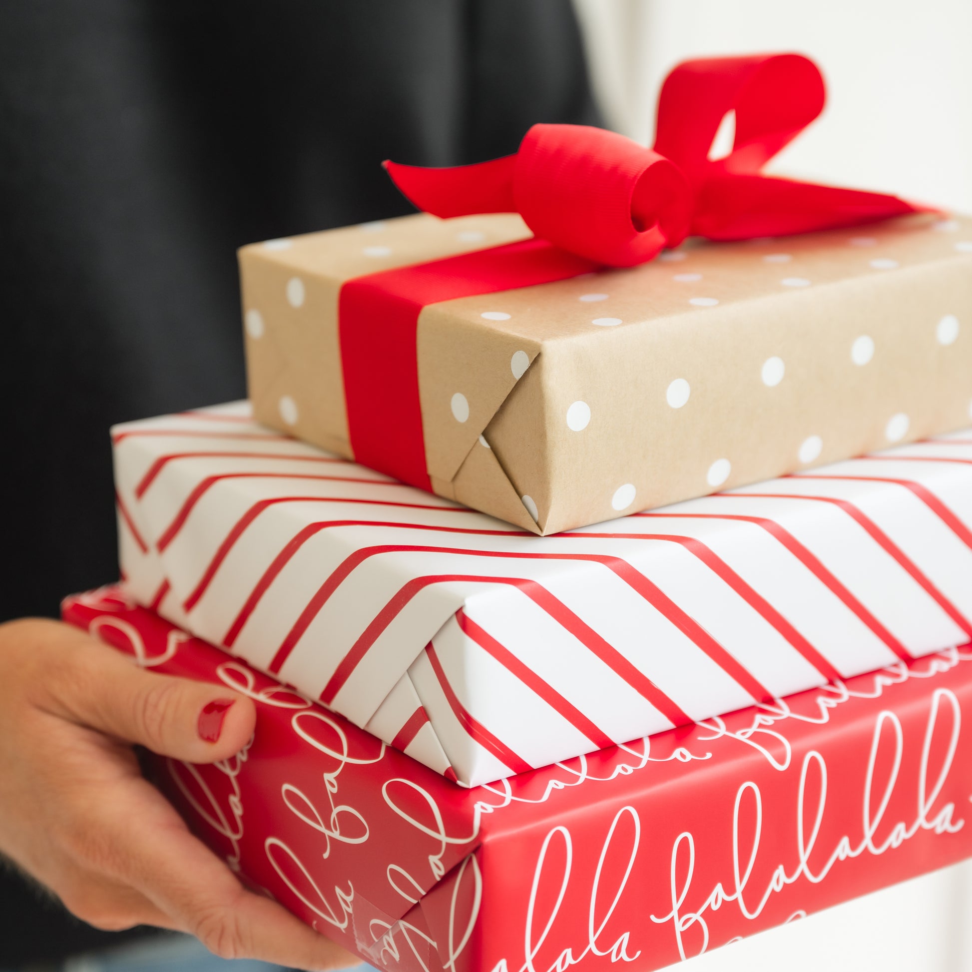
[[[933,211],[883,192],[725,173],[700,188],[692,233],[712,240],[788,236]]]

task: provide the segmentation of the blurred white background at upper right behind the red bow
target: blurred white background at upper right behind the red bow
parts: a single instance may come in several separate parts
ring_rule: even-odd
[[[608,124],[640,142],[686,57],[796,51],[823,115],[772,164],[972,213],[972,0],[575,0]]]

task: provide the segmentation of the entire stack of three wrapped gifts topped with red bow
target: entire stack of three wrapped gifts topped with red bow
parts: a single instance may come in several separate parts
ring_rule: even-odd
[[[696,61],[654,151],[391,165],[425,213],[241,251],[250,402],[113,430],[64,615],[255,700],[156,782],[371,964],[654,969],[972,854],[972,221],[763,175],[821,106]]]

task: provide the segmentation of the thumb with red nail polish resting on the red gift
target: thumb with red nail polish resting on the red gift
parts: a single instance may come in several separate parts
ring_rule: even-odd
[[[54,714],[191,763],[226,759],[253,735],[253,701],[225,685],[146,671],[77,628],[44,627],[43,708]]]

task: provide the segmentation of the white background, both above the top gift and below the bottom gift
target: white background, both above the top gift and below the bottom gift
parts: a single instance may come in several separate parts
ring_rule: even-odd
[[[972,213],[972,0],[574,2],[616,130],[650,144],[661,82],[686,57],[806,53],[823,70],[827,107],[771,171]],[[972,807],[969,816],[972,826]],[[688,968],[972,972],[972,866],[887,888]]]

